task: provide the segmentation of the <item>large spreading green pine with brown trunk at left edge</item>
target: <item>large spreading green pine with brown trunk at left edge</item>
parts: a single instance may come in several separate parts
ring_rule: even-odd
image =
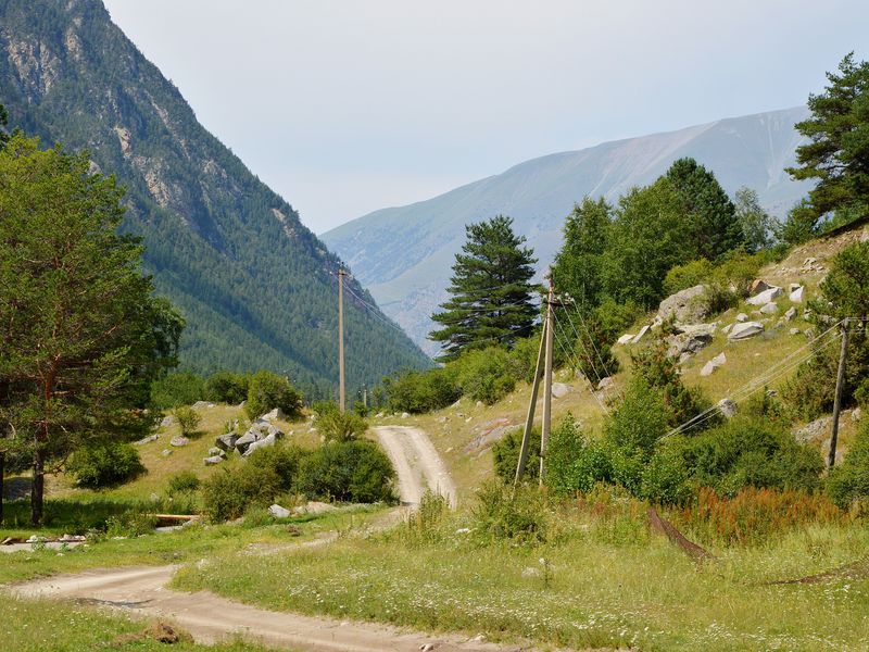
[[[149,427],[137,408],[177,364],[184,325],[153,297],[138,239],[117,233],[123,190],[89,168],[21,134],[0,151],[0,424],[30,460],[34,524],[46,473]]]

